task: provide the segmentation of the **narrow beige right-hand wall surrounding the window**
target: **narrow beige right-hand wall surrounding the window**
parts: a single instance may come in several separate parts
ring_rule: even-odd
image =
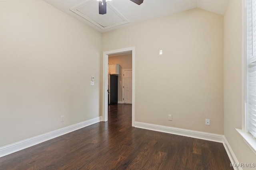
[[[224,135],[240,163],[255,163],[235,129],[242,129],[242,102],[242,0],[230,0],[224,15]]]

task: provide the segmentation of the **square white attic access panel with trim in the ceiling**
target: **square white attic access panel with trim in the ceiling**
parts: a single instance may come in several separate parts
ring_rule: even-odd
[[[99,2],[96,0],[87,0],[70,10],[102,30],[129,23],[110,3],[107,3],[107,14],[104,15],[99,14]]]

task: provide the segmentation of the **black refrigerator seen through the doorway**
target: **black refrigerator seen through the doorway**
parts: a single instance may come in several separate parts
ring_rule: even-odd
[[[117,104],[118,93],[117,93],[118,75],[108,74],[108,104]]]

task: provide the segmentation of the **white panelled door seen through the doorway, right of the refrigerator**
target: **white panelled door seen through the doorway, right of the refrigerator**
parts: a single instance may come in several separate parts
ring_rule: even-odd
[[[132,70],[123,71],[123,100],[125,104],[132,104]]]

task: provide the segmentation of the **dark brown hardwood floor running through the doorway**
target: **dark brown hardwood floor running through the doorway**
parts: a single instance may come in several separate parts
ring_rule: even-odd
[[[1,170],[229,170],[222,145],[131,126],[132,105],[100,122],[0,158]]]

